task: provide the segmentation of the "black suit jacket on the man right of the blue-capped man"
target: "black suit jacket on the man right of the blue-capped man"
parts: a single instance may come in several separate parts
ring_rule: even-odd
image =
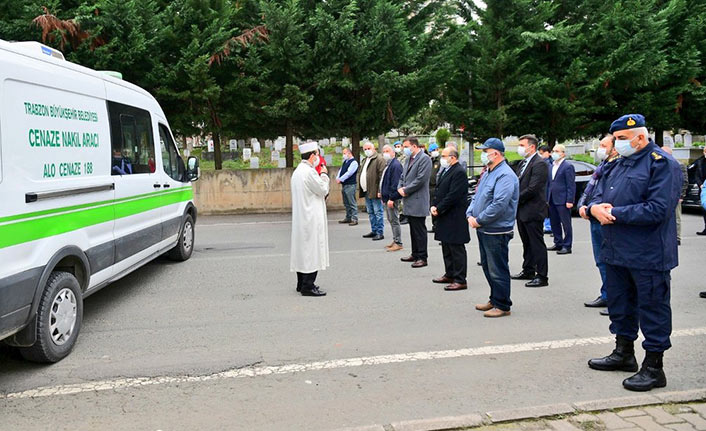
[[[517,220],[540,221],[547,217],[547,163],[535,154],[520,176],[522,163],[517,165],[520,178],[520,200],[517,204]]]

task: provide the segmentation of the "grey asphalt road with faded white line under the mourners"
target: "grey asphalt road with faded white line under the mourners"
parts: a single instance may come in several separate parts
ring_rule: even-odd
[[[340,216],[324,298],[294,291],[288,216],[201,218],[191,260],[159,259],[86,300],[62,362],[0,348],[0,430],[325,430],[630,395],[629,373],[586,366],[612,349],[608,319],[582,305],[599,286],[587,222],[574,219],[572,255],[550,252],[550,286],[513,282],[512,316],[493,320],[473,309],[489,294],[475,237],[469,289],[444,292],[431,235],[430,265],[412,269],[406,226],[405,250],[386,253],[391,235],[361,237],[365,214],[356,227]],[[664,390],[706,388],[706,238],[700,215],[683,223]],[[513,272],[521,255],[516,236]]]

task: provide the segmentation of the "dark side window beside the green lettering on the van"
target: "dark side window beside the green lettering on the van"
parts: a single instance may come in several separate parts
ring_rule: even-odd
[[[108,102],[113,175],[155,172],[152,119],[144,109]]]

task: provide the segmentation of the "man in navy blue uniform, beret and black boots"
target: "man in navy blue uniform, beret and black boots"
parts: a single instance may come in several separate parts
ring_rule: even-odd
[[[640,371],[623,381],[632,391],[666,386],[662,367],[671,347],[670,275],[677,266],[679,166],[649,141],[645,118],[624,115],[610,132],[621,156],[600,181],[588,205],[602,225],[601,260],[606,264],[610,332],[616,348],[588,366],[604,371],[637,371],[634,341],[642,330],[645,360]]]

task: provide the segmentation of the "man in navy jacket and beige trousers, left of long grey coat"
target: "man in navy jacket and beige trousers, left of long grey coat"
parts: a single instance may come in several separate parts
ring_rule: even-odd
[[[387,163],[380,181],[380,199],[385,206],[387,221],[392,228],[392,242],[386,245],[387,251],[402,250],[402,229],[400,228],[400,199],[397,184],[402,176],[402,164],[395,158],[395,150],[390,145],[382,147],[382,158]]]

